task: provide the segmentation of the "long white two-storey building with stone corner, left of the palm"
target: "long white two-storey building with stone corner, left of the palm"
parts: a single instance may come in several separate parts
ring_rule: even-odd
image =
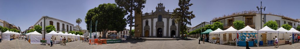
[[[47,32],[45,30],[45,27],[49,26],[49,25],[55,26],[56,32],[60,32],[60,31],[65,31],[65,32],[79,31],[79,29],[74,28],[75,26],[71,23],[68,23],[66,21],[59,20],[59,19],[56,19],[56,18],[48,17],[48,16],[43,16],[41,19],[39,19],[34,24],[34,26],[35,25],[42,26],[43,38],[45,37],[45,34],[47,34]]]

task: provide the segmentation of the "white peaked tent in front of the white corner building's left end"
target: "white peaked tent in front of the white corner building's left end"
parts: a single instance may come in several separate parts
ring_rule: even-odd
[[[51,31],[48,34],[45,34],[45,39],[47,40],[47,43],[50,44],[50,39],[53,37],[53,40],[55,39],[59,39],[60,38],[60,34],[56,33],[55,31]]]

